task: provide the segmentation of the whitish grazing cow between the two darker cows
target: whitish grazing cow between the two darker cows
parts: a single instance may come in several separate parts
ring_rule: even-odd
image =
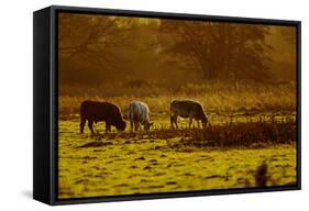
[[[145,131],[148,131],[151,125],[153,125],[150,121],[150,108],[146,103],[140,101],[130,102],[128,112],[132,131],[133,124],[134,131],[139,130],[140,123],[144,125]]]

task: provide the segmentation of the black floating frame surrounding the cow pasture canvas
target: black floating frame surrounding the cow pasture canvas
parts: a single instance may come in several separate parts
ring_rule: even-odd
[[[57,14],[58,12],[108,14],[177,20],[208,20],[233,23],[289,25],[297,27],[297,184],[293,186],[203,190],[186,192],[143,193],[59,200],[57,199]],[[301,22],[271,19],[249,19],[201,14],[164,13],[150,11],[110,10],[51,5],[33,13],[33,198],[47,204],[71,204],[124,200],[162,199],[176,197],[230,193],[268,192],[301,189]]]

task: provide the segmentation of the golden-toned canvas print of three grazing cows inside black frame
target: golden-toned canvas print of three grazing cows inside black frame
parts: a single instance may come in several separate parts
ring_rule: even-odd
[[[59,200],[296,186],[296,26],[57,15]]]

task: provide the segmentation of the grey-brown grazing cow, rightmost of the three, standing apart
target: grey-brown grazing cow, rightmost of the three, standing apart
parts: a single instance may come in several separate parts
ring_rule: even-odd
[[[205,114],[202,106],[198,102],[191,100],[174,100],[170,102],[170,125],[178,129],[177,116],[189,118],[189,127],[191,127],[192,119],[198,122],[199,120],[202,123],[202,127],[206,127],[208,123],[208,116]]]

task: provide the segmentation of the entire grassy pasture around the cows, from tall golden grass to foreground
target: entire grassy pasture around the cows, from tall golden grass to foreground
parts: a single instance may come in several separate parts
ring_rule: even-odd
[[[296,184],[294,85],[195,86],[166,90],[109,86],[63,87],[59,97],[58,197],[211,190]],[[130,95],[134,93],[134,95]],[[169,101],[200,101],[210,118],[206,130],[169,125]],[[104,123],[79,134],[79,104],[107,100],[124,113],[131,100],[146,102],[148,133],[104,133]],[[128,124],[129,126],[129,124]]]

